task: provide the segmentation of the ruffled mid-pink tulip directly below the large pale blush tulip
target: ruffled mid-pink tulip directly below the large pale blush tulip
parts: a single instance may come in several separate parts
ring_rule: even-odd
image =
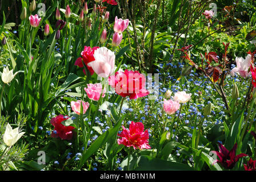
[[[100,83],[97,84],[87,84],[87,88],[85,88],[85,92],[90,100],[98,101],[99,97],[101,97],[102,85]],[[105,97],[106,89],[104,88],[102,97]]]

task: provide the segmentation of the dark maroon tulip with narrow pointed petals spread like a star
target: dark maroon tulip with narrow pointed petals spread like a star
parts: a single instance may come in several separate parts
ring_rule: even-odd
[[[239,154],[235,155],[235,151],[237,151],[237,143],[235,143],[234,147],[228,151],[227,148],[225,148],[221,143],[218,142],[219,145],[219,152],[218,151],[212,151],[214,154],[216,154],[219,157],[219,160],[215,160],[213,164],[215,163],[221,163],[222,166],[226,169],[232,169],[235,167],[235,163],[238,162],[240,158],[243,156],[247,156],[246,154]]]

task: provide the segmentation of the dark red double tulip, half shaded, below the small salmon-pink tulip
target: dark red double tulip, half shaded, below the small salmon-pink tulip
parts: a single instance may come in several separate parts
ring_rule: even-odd
[[[54,131],[51,132],[51,137],[53,138],[61,138],[63,140],[71,140],[73,137],[73,130],[75,127],[73,126],[64,126],[62,125],[62,121],[69,119],[67,116],[63,116],[62,114],[57,115],[55,118],[51,118],[51,125],[54,126]]]

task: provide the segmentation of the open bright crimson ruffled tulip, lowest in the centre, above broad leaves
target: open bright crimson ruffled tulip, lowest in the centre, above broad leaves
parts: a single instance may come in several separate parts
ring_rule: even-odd
[[[120,134],[117,134],[118,137],[122,137],[117,139],[118,144],[123,144],[126,147],[133,146],[134,149],[142,150],[143,148],[149,149],[149,132],[144,130],[144,125],[141,122],[134,123],[133,121],[130,123],[129,130],[127,130],[124,126],[123,131]]]

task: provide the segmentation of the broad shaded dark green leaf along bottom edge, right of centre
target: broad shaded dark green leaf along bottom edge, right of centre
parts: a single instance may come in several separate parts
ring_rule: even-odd
[[[136,171],[193,171],[187,164],[170,162],[142,155],[138,158]]]

